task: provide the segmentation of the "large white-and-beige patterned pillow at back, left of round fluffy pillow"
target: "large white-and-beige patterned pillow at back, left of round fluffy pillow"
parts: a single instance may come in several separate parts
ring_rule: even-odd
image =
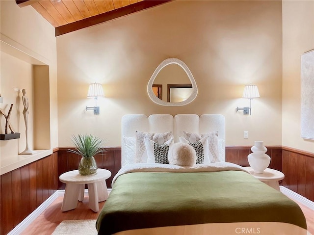
[[[162,145],[172,137],[172,132],[148,133],[135,131],[135,163],[147,162],[147,152],[144,143],[145,137]]]

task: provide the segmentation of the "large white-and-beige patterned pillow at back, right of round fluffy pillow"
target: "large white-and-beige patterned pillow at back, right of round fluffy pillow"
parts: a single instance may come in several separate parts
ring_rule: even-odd
[[[187,139],[190,143],[196,142],[204,137],[208,137],[208,146],[209,146],[209,160],[210,162],[220,162],[219,158],[219,148],[218,148],[218,131],[211,131],[205,134],[197,134],[183,131],[183,137]]]

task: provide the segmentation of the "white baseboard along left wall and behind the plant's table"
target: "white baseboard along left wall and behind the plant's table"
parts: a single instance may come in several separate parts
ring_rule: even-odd
[[[108,188],[108,194],[111,192],[111,188]],[[42,213],[47,209],[54,200],[58,197],[64,196],[64,189],[56,190],[45,202],[43,202],[37,209],[31,212],[21,223],[19,223],[10,233],[7,235],[22,234],[22,232]],[[88,189],[84,190],[84,197],[88,196]],[[60,208],[61,209],[61,208]]]

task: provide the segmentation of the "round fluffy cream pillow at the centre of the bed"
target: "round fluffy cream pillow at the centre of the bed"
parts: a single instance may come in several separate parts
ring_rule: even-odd
[[[196,152],[194,148],[186,143],[175,143],[168,151],[169,164],[179,166],[194,166],[196,164]]]

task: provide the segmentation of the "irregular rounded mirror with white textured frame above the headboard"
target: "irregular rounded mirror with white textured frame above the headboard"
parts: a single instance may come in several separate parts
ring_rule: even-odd
[[[162,87],[165,82],[166,85]],[[164,92],[163,89],[165,89]],[[162,95],[165,92],[167,96]],[[182,60],[168,58],[162,61],[154,71],[147,84],[147,93],[156,104],[182,106],[191,103],[196,98],[197,85],[191,71]]]

